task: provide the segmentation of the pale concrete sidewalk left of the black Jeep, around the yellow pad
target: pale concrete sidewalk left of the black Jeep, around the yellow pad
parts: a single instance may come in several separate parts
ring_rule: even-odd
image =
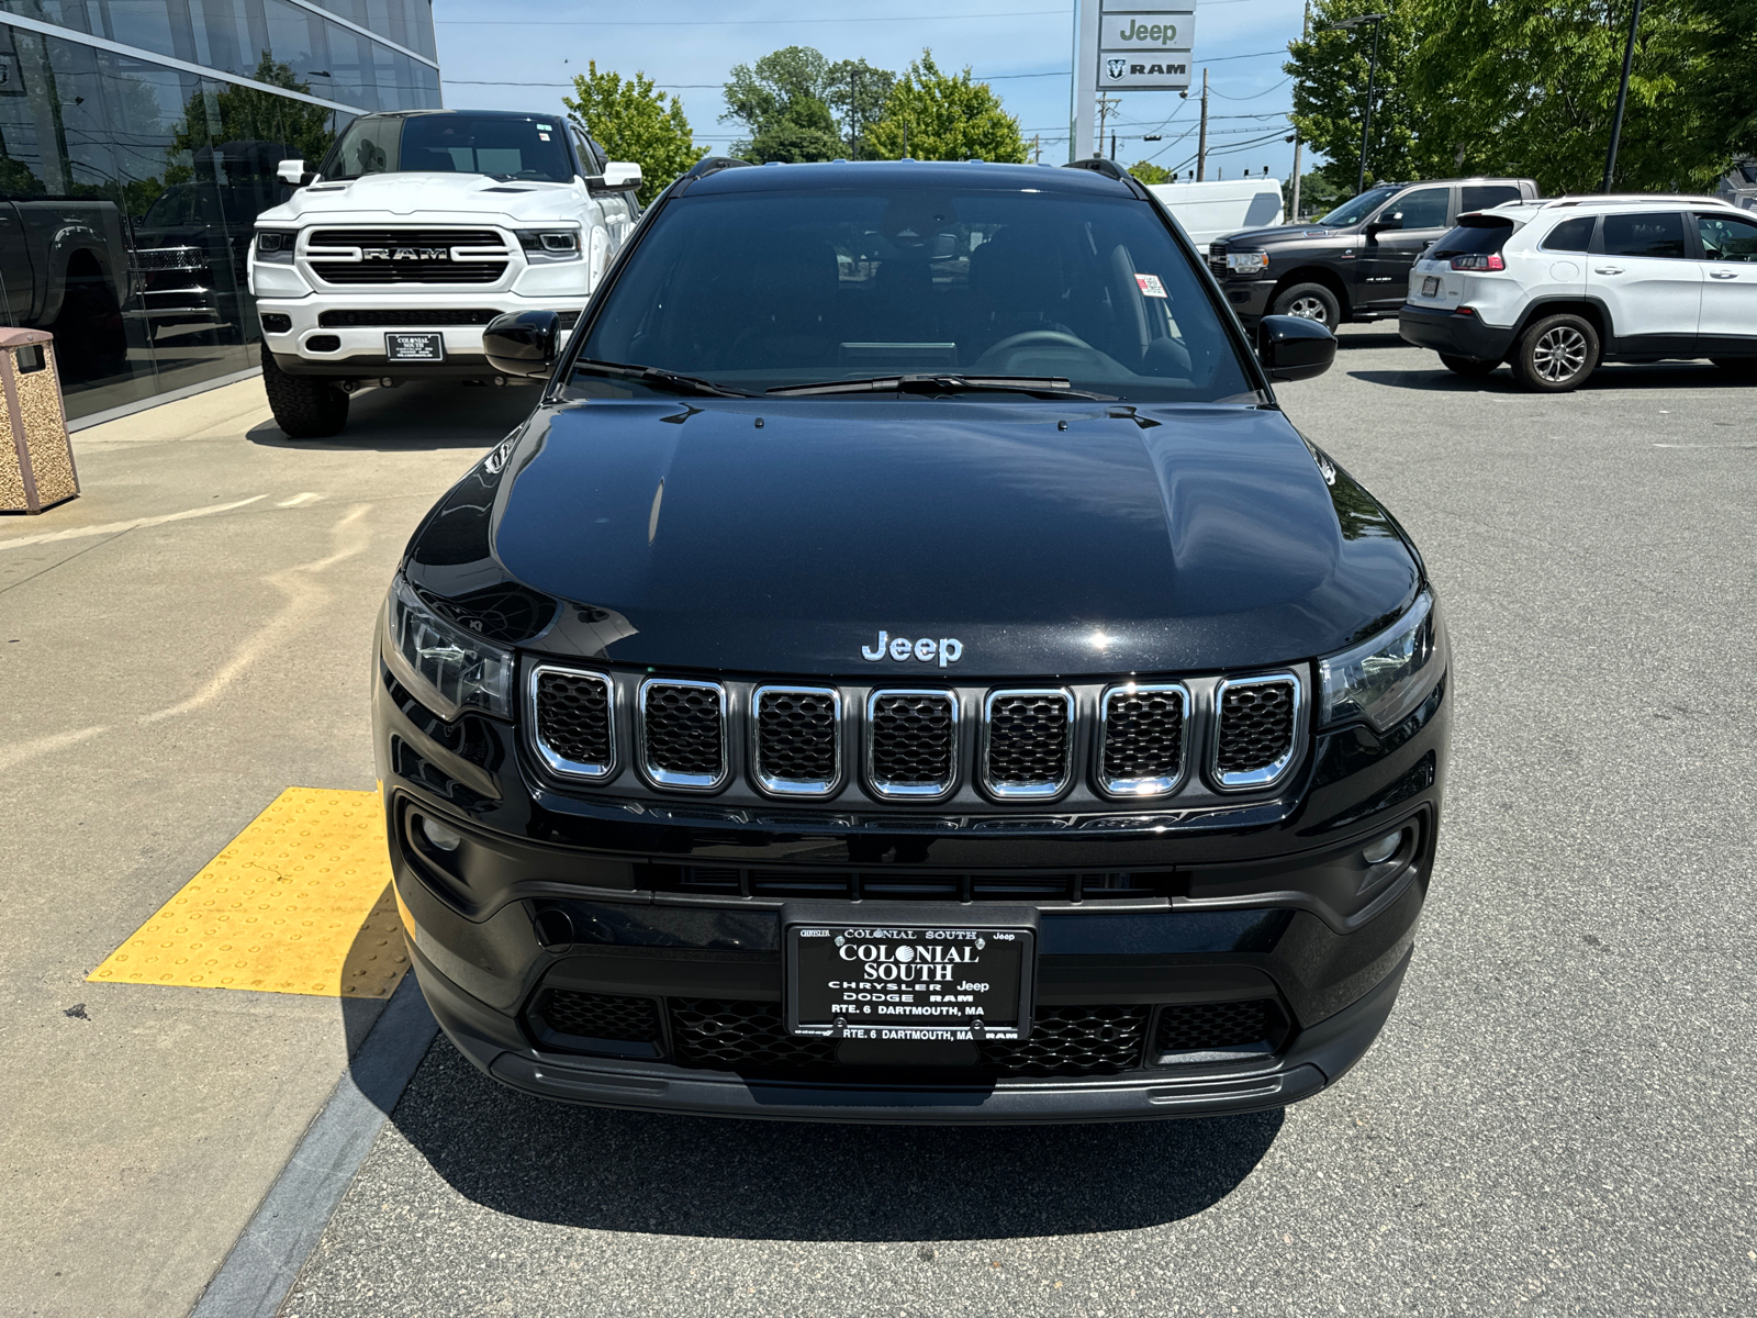
[[[534,402],[369,392],[292,443],[242,381],[79,432],[84,496],[0,520],[0,1313],[186,1313],[381,1010],[86,975],[283,787],[374,786],[390,573]]]

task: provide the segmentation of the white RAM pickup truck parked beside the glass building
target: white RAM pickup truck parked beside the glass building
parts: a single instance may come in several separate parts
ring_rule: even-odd
[[[515,311],[585,308],[640,204],[640,165],[604,160],[555,114],[362,114],[316,172],[257,218],[249,290],[276,424],[322,439],[362,385],[501,380],[481,330]]]

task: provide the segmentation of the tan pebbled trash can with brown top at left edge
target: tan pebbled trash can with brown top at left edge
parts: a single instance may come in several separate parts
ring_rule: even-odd
[[[79,494],[54,336],[0,329],[0,511],[40,513]]]

